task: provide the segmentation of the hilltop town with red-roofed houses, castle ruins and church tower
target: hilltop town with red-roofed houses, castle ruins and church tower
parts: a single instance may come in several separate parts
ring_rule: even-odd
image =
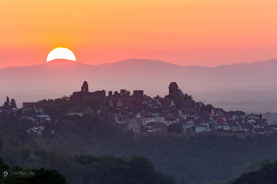
[[[60,109],[63,115],[61,118],[53,117],[53,112],[58,108],[51,104],[49,99],[23,102],[21,108],[5,102],[0,113],[27,120],[32,125],[27,127],[27,133],[37,137],[40,137],[45,129],[54,134],[58,123],[61,123],[61,126],[74,124],[74,119],[70,117],[86,115],[97,116],[109,126],[124,131],[131,130],[135,136],[214,131],[272,135],[277,130],[277,122],[267,122],[261,115],[242,111],[227,112],[211,104],[195,102],[191,95],[179,89],[176,82],[171,82],[168,88],[169,93],[165,97],[150,97],[145,95],[143,90],[134,90],[131,95],[130,91],[125,89],[114,93],[108,91],[106,96],[105,90],[89,92],[88,84],[84,81],[81,91],[73,92],[70,97],[62,97],[64,100],[72,100],[72,106],[65,108],[68,109],[65,112]],[[49,122],[53,126],[47,126]]]

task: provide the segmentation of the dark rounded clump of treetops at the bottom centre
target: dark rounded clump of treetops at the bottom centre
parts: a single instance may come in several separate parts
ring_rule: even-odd
[[[151,161],[137,155],[129,159],[80,155],[74,157],[74,163],[80,164],[79,169],[87,170],[87,172],[79,172],[85,180],[84,183],[89,181],[97,184],[176,183],[174,178],[157,172]]]

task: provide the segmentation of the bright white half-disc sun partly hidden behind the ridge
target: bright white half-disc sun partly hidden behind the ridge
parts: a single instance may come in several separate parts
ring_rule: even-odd
[[[46,62],[52,61],[54,59],[67,59],[76,61],[76,57],[73,52],[67,48],[58,47],[49,52]]]

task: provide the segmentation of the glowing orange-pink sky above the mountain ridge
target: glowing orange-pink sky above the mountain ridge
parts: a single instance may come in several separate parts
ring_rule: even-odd
[[[55,47],[97,65],[128,58],[216,66],[277,58],[276,0],[9,0],[0,68],[46,62]]]

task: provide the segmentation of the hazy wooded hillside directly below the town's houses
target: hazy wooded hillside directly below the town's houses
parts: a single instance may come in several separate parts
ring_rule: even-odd
[[[55,169],[70,183],[80,183],[80,177],[91,177],[82,171],[93,170],[94,167],[72,164],[73,155],[126,158],[136,154],[153,161],[156,170],[173,174],[177,181],[198,184],[223,183],[239,176],[248,163],[277,152],[276,134],[246,139],[215,135],[202,137],[201,134],[190,140],[172,135],[133,139],[132,134],[123,134],[90,116],[72,117],[73,126],[56,124],[59,130],[54,135],[35,138],[25,131],[28,121],[3,113],[0,115],[0,156],[6,163],[23,168]],[[76,166],[81,172],[72,174]]]

